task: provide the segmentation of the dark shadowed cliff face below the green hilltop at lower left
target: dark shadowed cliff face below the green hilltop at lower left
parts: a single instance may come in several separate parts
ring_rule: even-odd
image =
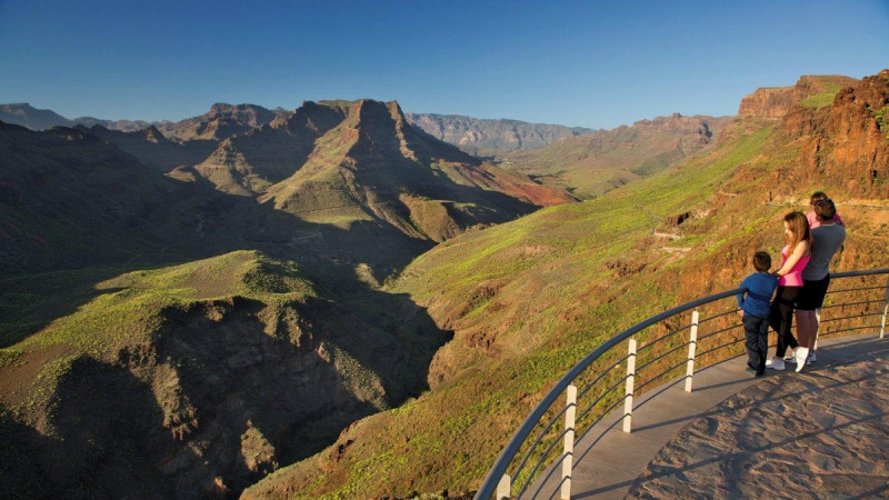
[[[0,468],[14,471],[0,474],[3,490],[237,497],[352,421],[418,393],[447,340],[378,330],[326,300],[290,306],[272,311],[278,322],[266,304],[238,297],[167,308],[150,341],[119,348],[112,361],[50,360],[26,409],[3,412]],[[0,371],[21,378],[40,356],[27,351]],[[22,411],[31,423],[12,417]]]

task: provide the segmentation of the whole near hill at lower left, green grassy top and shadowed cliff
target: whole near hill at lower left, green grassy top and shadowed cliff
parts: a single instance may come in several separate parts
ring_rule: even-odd
[[[13,494],[238,494],[417,393],[447,340],[391,299],[398,326],[371,327],[256,251],[71,277],[77,310],[0,349],[0,463],[31,478],[0,479]]]

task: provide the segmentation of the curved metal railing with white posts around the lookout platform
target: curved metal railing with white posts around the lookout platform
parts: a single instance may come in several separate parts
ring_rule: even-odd
[[[880,284],[867,282],[882,279],[883,276],[889,277],[889,269],[831,273],[831,290],[828,291],[825,307],[819,314],[819,337],[863,329],[873,331],[879,328],[879,336],[883,338],[889,310],[889,280],[885,283],[880,281]],[[857,286],[846,284],[855,278],[860,279]],[[833,289],[839,282],[842,283],[842,288]],[[875,298],[878,294],[877,290],[882,291],[882,297],[879,299]],[[736,314],[735,297],[746,291],[746,289],[728,290],[678,306],[648,318],[600,344],[556,382],[531,411],[500,452],[476,493],[476,499],[489,499],[495,496],[498,500],[521,498],[543,470],[549,469],[549,474],[556,473],[559,462],[561,462],[562,479],[557,488],[560,489],[561,498],[570,498],[573,446],[583,439],[596,423],[622,403],[623,431],[630,432],[635,394],[643,393],[645,388],[655,387],[656,381],[662,381],[670,374],[673,377],[669,380],[675,379],[680,374],[678,370],[682,367],[686,368],[685,390],[691,392],[696,362],[700,367],[709,367],[742,352],[743,327]],[[840,296],[849,300],[838,302],[837,298]],[[712,311],[727,299],[731,299],[731,307],[726,308],[722,303],[722,310]],[[705,309],[703,314],[702,309]],[[670,320],[688,311],[692,311],[688,323],[679,326],[670,323]],[[870,322],[877,316],[881,318],[879,326]],[[650,329],[655,326],[661,326],[666,332],[652,336]],[[679,334],[686,331],[688,331],[687,340],[680,339]],[[699,331],[702,332],[700,337],[698,337]],[[638,347],[637,339],[633,338],[636,336],[642,338],[646,343]],[[626,356],[615,349],[625,340],[628,340]],[[698,346],[705,349],[698,352]],[[685,349],[688,356],[682,357],[678,363],[673,362]],[[637,366],[637,361],[642,362]],[[625,363],[626,374],[620,370]],[[590,381],[583,380],[590,377]],[[638,386],[637,381],[640,382]],[[625,386],[622,396],[618,390],[620,386]],[[582,388],[578,390],[578,387]],[[556,407],[556,402],[561,398],[565,398],[566,404]],[[578,412],[578,402],[589,398],[592,398],[592,401],[587,402]],[[560,430],[557,424],[562,419],[565,427]],[[531,438],[538,427],[541,430]],[[576,432],[581,428],[586,431],[576,439]],[[563,444],[561,454],[550,460],[560,442]],[[519,456],[521,451],[525,452]],[[516,466],[510,470],[512,463]]]

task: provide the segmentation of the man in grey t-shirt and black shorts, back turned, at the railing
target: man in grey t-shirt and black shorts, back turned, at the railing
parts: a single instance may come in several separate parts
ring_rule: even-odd
[[[827,288],[830,286],[828,267],[842,242],[846,241],[846,228],[838,224],[833,217],[837,207],[829,199],[818,201],[815,213],[820,226],[812,229],[812,253],[806,269],[802,270],[802,291],[797,299],[797,333],[800,347],[796,351],[797,371],[802,370],[809,358],[809,350],[815,344],[818,332],[816,309],[820,309]]]

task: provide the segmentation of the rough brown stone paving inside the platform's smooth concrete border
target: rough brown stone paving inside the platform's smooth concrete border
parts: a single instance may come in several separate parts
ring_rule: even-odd
[[[768,377],[682,429],[629,498],[889,498],[889,357]]]

